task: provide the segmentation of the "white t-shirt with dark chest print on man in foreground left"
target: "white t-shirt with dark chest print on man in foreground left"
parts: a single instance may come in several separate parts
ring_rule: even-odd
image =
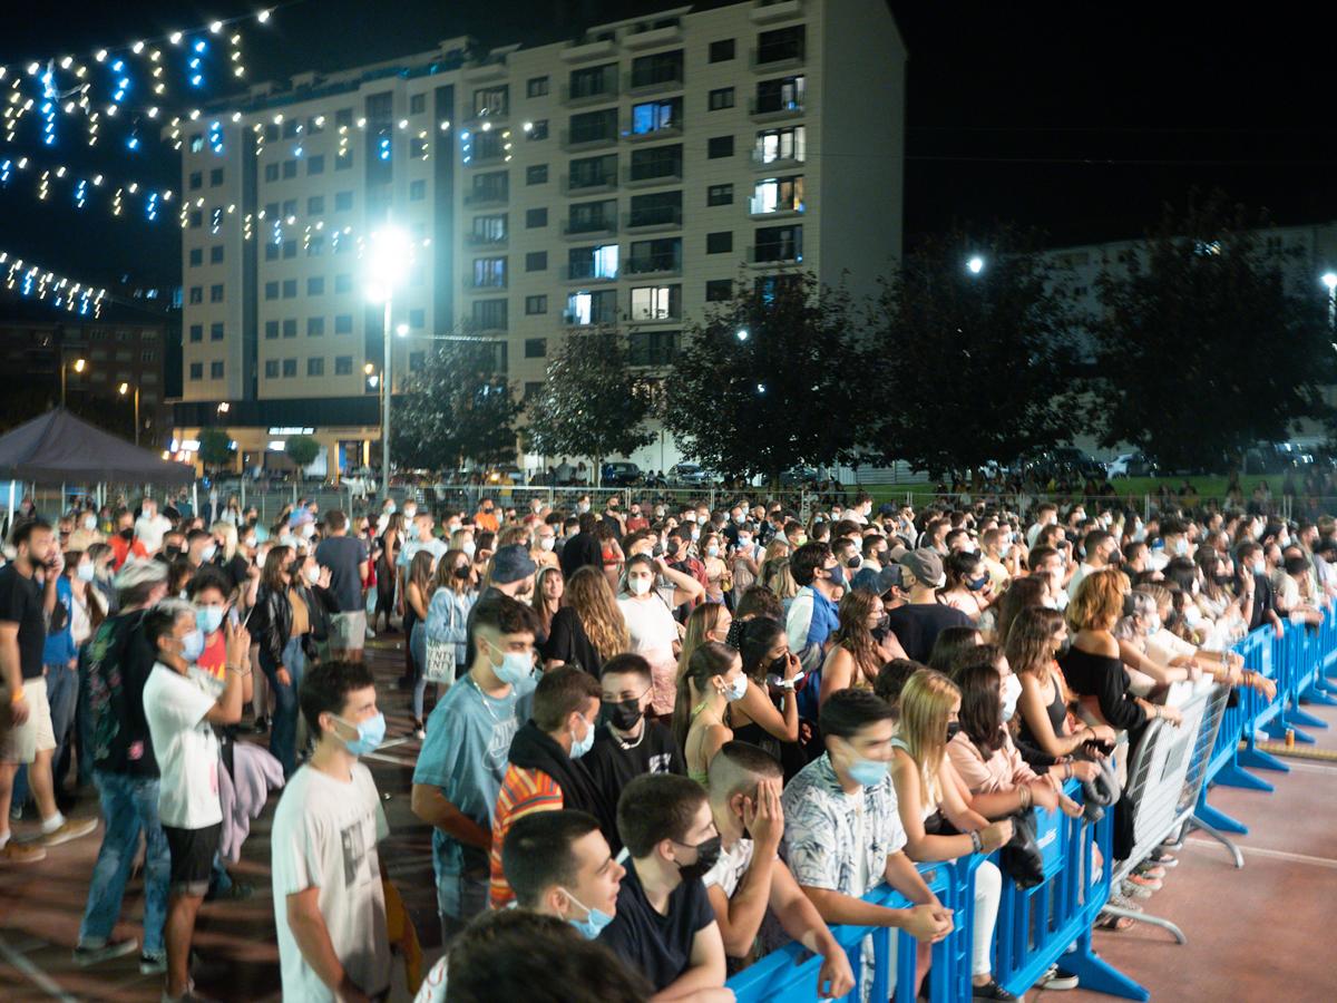
[[[287,781],[270,834],[283,999],[334,1000],[287,925],[287,896],[313,887],[320,888],[321,916],[349,978],[373,996],[389,988],[390,944],[376,852],[389,833],[376,781],[362,764],[354,764],[349,782],[312,766]]]

